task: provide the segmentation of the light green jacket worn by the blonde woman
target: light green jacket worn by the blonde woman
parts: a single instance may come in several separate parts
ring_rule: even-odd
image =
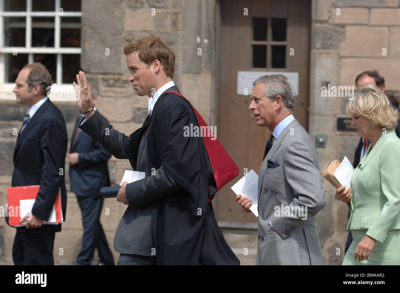
[[[383,243],[389,230],[400,229],[400,139],[387,130],[371,146],[351,177],[347,229],[366,229],[368,236]]]

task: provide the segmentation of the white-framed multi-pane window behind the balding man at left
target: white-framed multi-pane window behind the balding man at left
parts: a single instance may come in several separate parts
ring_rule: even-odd
[[[0,0],[0,98],[33,62],[70,86],[81,69],[81,17],[81,0]]]

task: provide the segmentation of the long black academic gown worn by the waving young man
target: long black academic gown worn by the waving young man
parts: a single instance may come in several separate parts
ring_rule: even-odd
[[[172,87],[166,92],[178,88]],[[202,137],[184,137],[184,126],[198,126],[190,104],[174,93],[158,98],[143,127],[131,134],[132,151],[147,131],[147,169],[163,171],[182,188],[150,203],[159,265],[239,265],[209,203],[215,180]],[[130,158],[136,167],[137,155]],[[143,205],[141,205],[143,206]]]

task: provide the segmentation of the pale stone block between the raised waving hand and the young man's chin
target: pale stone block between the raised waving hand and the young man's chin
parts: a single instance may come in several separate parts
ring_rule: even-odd
[[[102,97],[97,101],[97,106],[111,124],[112,122],[127,122],[133,118],[132,101],[133,99]]]

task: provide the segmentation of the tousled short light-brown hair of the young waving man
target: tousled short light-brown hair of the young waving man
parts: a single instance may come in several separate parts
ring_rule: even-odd
[[[144,62],[147,68],[154,60],[160,60],[166,76],[174,78],[175,52],[164,40],[152,34],[146,34],[138,40],[125,43],[124,54],[138,52],[139,59]]]

